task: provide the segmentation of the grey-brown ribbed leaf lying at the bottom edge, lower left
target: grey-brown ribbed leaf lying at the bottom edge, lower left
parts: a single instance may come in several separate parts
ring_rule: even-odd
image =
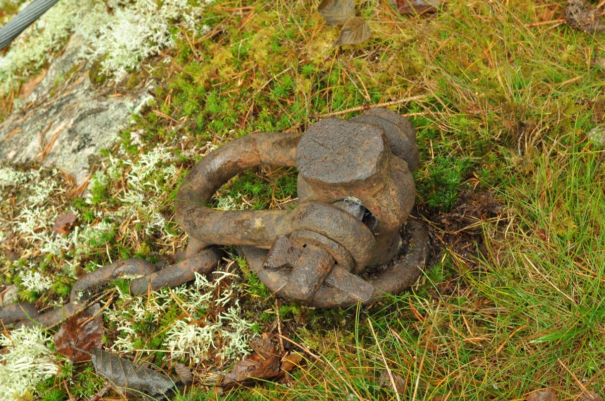
[[[90,356],[96,373],[120,394],[141,399],[144,398],[142,394],[168,398],[176,387],[170,377],[143,368],[128,359],[120,358],[97,347],[92,347]]]

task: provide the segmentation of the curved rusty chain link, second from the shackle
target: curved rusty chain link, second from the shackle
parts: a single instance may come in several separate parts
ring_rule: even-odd
[[[153,263],[144,259],[126,259],[114,261],[90,272],[76,281],[71,288],[70,301],[85,301],[97,292],[103,290],[105,284],[116,278],[136,278],[155,272],[157,268]]]

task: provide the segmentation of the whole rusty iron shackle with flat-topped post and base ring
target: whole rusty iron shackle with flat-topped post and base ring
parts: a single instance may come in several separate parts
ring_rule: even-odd
[[[178,189],[176,218],[192,237],[188,257],[214,244],[240,245],[270,290],[316,307],[401,292],[428,254],[422,226],[406,226],[409,246],[400,235],[415,197],[415,136],[404,117],[374,108],[350,120],[318,121],[304,134],[254,133],[221,146]],[[258,165],[298,168],[296,208],[206,206],[221,185]],[[373,275],[364,280],[358,275],[368,266]]]

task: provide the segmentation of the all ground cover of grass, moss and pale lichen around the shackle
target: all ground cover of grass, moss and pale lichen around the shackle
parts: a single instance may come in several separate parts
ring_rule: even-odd
[[[603,34],[567,24],[561,2],[453,0],[402,16],[368,0],[355,7],[370,39],[333,47],[339,29],[318,5],[215,1],[195,29],[171,21],[172,42],[124,66],[125,75],[99,54],[97,85],[120,95],[154,80],[153,100],[98,155],[88,186],[35,163],[2,167],[2,286],[52,308],[77,277],[111,261],[171,263],[188,242],[174,222],[178,184],[208,152],[249,133],[302,132],[325,115],[390,103],[417,129],[410,219],[430,229],[433,245],[409,292],[309,309],[271,297],[228,248],[226,274],[174,297],[130,300],[128,280],[108,286],[106,348],[170,374],[176,362],[188,365],[197,387],[178,400],[513,400],[543,387],[560,399],[603,394]],[[3,116],[27,76],[13,75]],[[259,167],[224,185],[214,207],[276,208],[295,197],[295,170]],[[68,211],[77,223],[55,234]],[[178,323],[199,321],[220,327]],[[9,330],[1,341],[10,346],[12,335],[17,349],[38,339],[52,349],[56,331]],[[227,341],[199,341],[211,332]],[[273,335],[280,356],[298,352],[296,368],[224,394],[199,379],[253,352],[249,340],[261,333]],[[31,358],[56,373],[28,384],[27,397],[90,399],[102,390],[90,362],[34,350]]]

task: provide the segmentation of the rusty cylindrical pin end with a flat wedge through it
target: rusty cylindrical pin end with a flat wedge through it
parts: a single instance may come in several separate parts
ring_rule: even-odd
[[[299,301],[310,301],[332,270],[334,261],[329,252],[307,245],[292,268],[284,289],[286,296]]]

